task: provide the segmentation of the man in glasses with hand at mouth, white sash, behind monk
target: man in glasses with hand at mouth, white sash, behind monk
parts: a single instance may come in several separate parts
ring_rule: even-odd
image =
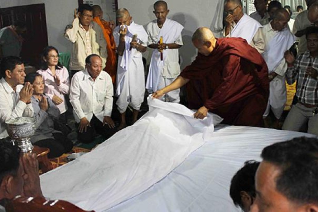
[[[262,25],[243,13],[241,0],[226,0],[224,4],[225,27],[223,37],[244,38],[250,43]]]

